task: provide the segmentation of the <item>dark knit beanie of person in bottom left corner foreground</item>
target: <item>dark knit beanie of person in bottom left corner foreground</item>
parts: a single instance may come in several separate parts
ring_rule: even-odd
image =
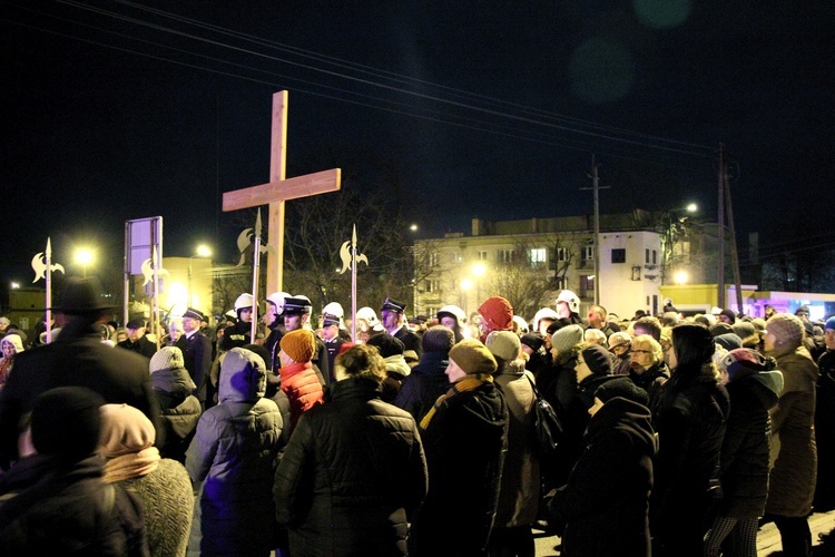
[[[105,400],[82,387],[59,387],[36,399],[32,407],[32,444],[41,455],[78,462],[92,455],[101,434],[99,408]]]

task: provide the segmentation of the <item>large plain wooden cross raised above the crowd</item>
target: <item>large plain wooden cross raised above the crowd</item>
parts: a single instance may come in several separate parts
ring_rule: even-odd
[[[287,163],[287,91],[273,95],[273,133],[269,182],[224,194],[224,212],[269,205],[268,244],[276,256],[267,258],[267,295],[282,290],[284,281],[284,202],[340,189],[338,168],[285,179]]]

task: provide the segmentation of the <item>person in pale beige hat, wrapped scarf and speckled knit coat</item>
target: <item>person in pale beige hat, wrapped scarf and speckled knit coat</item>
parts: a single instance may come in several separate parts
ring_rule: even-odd
[[[141,501],[150,555],[185,555],[194,514],[191,480],[180,462],[160,458],[154,438],[154,424],[136,408],[101,407],[104,480]]]

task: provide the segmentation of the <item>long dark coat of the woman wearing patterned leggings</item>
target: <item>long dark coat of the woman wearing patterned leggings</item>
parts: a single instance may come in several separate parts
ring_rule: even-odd
[[[726,389],[730,397],[730,416],[721,446],[719,515],[759,518],[768,497],[772,437],[768,410],[777,404],[783,373],[745,370],[738,372]]]

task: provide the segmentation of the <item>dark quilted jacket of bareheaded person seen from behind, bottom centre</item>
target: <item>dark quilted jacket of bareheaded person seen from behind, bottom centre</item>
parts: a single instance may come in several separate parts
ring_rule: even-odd
[[[292,555],[405,555],[426,461],[414,419],[380,392],[367,379],[337,381],[298,421],[273,491]]]

